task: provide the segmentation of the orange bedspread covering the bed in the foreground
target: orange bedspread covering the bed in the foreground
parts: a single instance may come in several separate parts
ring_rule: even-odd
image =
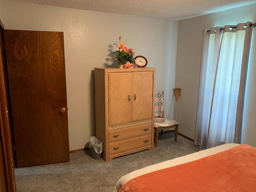
[[[256,192],[256,148],[246,144],[128,181],[120,192]]]

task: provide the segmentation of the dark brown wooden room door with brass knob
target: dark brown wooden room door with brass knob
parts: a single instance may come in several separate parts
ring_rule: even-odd
[[[4,30],[4,41],[17,166],[68,162],[63,33]]]

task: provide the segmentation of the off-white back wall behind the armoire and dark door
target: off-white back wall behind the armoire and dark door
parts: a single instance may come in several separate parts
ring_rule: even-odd
[[[148,59],[147,67],[156,67],[156,89],[174,87],[174,79],[170,88],[162,85],[166,69],[175,74],[176,44],[166,42],[177,41],[178,22],[5,0],[1,7],[5,29],[64,32],[70,150],[88,147],[95,134],[93,70],[112,66],[118,36]],[[166,47],[173,56],[168,61]]]

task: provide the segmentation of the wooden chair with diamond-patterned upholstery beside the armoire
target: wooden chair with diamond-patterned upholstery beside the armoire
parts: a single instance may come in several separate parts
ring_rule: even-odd
[[[155,92],[155,118],[154,129],[156,130],[156,147],[158,145],[159,130],[161,136],[164,129],[174,128],[174,142],[177,142],[179,123],[175,120],[164,118],[164,91]]]

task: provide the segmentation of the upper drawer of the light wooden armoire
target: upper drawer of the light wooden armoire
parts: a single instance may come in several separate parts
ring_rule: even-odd
[[[134,138],[142,135],[148,135],[152,132],[152,123],[121,128],[109,131],[109,142],[116,142],[124,139]]]

